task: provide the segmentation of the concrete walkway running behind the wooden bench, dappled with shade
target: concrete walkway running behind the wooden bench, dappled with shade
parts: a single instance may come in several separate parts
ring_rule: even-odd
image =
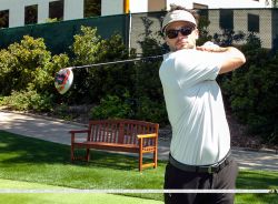
[[[70,144],[69,130],[85,128],[61,120],[0,111],[0,130],[61,144]],[[159,140],[159,160],[167,160],[168,154],[169,141]],[[278,171],[278,154],[275,151],[232,149],[232,155],[241,169]]]

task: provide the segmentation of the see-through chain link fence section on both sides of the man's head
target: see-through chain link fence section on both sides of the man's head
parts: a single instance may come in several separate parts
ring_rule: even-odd
[[[256,34],[266,49],[278,48],[278,9],[211,9],[199,10],[202,31],[221,44],[242,44],[249,33]],[[131,16],[130,47],[141,53],[140,41],[152,37],[163,43],[160,33],[166,12],[135,13]],[[202,32],[203,33],[203,32]],[[226,43],[225,43],[226,42]]]

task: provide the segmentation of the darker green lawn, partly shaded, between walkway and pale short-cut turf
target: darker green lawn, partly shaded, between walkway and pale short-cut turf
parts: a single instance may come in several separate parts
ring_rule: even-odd
[[[0,178],[73,188],[162,188],[165,162],[159,161],[158,169],[142,173],[137,165],[133,156],[99,151],[92,152],[89,163],[72,164],[68,145],[0,131]],[[241,170],[237,187],[278,188],[278,172]],[[1,200],[2,196],[9,194],[2,194]],[[162,201],[162,194],[128,196]],[[278,197],[277,194],[237,194],[236,203],[275,204]]]

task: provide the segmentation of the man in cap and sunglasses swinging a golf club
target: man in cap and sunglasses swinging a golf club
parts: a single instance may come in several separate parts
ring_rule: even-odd
[[[196,47],[197,18],[171,6],[162,22],[170,53],[159,70],[168,118],[172,126],[166,190],[232,190],[238,167],[230,157],[230,133],[218,74],[246,61],[236,48]],[[167,204],[228,204],[231,193],[166,193]]]

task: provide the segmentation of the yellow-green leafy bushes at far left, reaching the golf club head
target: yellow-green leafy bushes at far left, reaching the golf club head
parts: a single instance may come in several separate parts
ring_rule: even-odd
[[[0,94],[7,96],[6,104],[16,110],[50,111],[58,95],[54,73],[68,62],[67,54],[51,57],[41,38],[26,35],[20,43],[0,50]]]

